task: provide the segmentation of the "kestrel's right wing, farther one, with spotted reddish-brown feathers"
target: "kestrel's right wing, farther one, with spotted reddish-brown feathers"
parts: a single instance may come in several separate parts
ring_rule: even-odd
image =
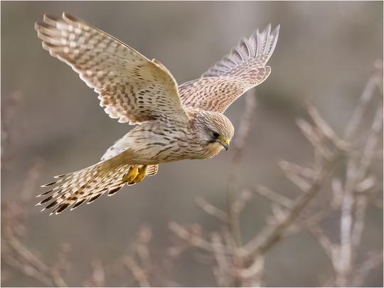
[[[183,106],[223,113],[238,97],[259,85],[271,73],[266,66],[279,36],[269,24],[262,33],[242,38],[228,55],[210,67],[201,78],[178,87]]]

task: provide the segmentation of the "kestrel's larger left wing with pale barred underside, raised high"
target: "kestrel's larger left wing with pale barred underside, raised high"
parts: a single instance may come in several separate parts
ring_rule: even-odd
[[[110,117],[129,124],[187,117],[174,77],[155,59],[65,13],[63,18],[44,15],[35,29],[43,48],[99,93],[100,106]]]

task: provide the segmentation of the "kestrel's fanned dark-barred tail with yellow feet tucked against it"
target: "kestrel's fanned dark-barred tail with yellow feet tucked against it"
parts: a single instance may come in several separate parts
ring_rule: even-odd
[[[134,185],[145,176],[156,174],[158,165],[111,164],[111,161],[101,161],[85,169],[55,176],[58,180],[41,187],[53,187],[38,197],[46,197],[36,205],[46,205],[45,209],[53,208],[53,213],[59,214],[72,206],[73,210],[82,203],[92,203],[102,194],[114,195],[122,186]]]

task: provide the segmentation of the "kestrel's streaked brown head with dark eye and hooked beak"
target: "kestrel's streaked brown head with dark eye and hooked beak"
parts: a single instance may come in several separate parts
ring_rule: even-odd
[[[202,142],[205,142],[210,149],[220,151],[228,150],[230,140],[233,137],[235,128],[230,120],[223,114],[212,111],[200,111],[195,118],[196,132]]]

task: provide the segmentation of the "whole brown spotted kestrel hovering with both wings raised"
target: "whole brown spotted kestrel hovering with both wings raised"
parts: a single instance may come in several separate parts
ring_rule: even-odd
[[[97,92],[110,117],[136,124],[97,164],[42,186],[54,186],[37,204],[53,208],[51,214],[92,203],[103,193],[112,196],[155,175],[161,163],[208,159],[227,150],[234,128],[223,112],[270,75],[266,64],[279,35],[279,26],[255,31],[200,78],[178,86],[159,61],[75,16],[44,15],[35,29],[43,48]]]

